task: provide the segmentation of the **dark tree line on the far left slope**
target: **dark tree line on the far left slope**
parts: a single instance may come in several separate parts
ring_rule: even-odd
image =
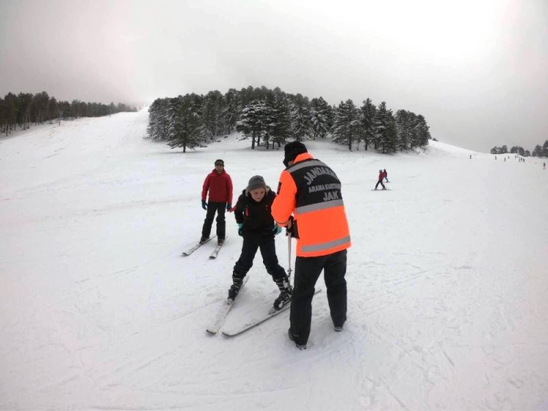
[[[118,112],[136,112],[135,107],[118,103],[86,103],[73,100],[58,101],[55,97],[49,97],[45,91],[36,94],[20,92],[18,95],[8,92],[2,99],[0,97],[0,133],[8,136],[16,130],[16,127],[27,129],[31,125],[37,125],[49,121],[61,121],[78,119],[79,117],[100,117]]]

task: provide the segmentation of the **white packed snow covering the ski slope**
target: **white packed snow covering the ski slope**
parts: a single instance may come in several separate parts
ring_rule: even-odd
[[[288,312],[206,333],[242,244],[232,214],[216,260],[214,242],[181,256],[214,160],[236,201],[252,175],[276,188],[283,149],[231,134],[182,153],[146,127],[141,111],[0,138],[0,409],[548,408],[543,160],[306,142],[343,182],[352,247],[345,329],[324,290],[299,351]],[[390,190],[372,191],[385,168]],[[259,254],[249,275],[227,326],[277,296]]]

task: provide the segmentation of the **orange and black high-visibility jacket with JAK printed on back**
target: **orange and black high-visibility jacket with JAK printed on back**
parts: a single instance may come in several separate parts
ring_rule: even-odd
[[[297,155],[279,176],[272,216],[285,227],[293,214],[297,222],[297,256],[327,256],[350,247],[340,180],[332,169],[309,153]]]

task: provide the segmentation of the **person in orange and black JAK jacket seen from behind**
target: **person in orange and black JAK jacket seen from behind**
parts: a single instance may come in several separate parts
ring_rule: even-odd
[[[336,331],[346,321],[345,280],[350,234],[341,184],[327,164],[312,158],[302,143],[289,143],[272,215],[297,238],[289,337],[306,348],[314,285],[324,271],[329,310]],[[293,214],[293,216],[291,215]]]

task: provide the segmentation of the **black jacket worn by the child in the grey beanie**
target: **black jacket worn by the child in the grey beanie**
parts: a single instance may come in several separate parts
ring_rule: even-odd
[[[275,198],[275,192],[268,186],[264,197],[259,202],[253,200],[247,190],[242,191],[234,209],[234,216],[236,223],[242,223],[243,237],[257,241],[274,237],[274,219],[271,207]]]

